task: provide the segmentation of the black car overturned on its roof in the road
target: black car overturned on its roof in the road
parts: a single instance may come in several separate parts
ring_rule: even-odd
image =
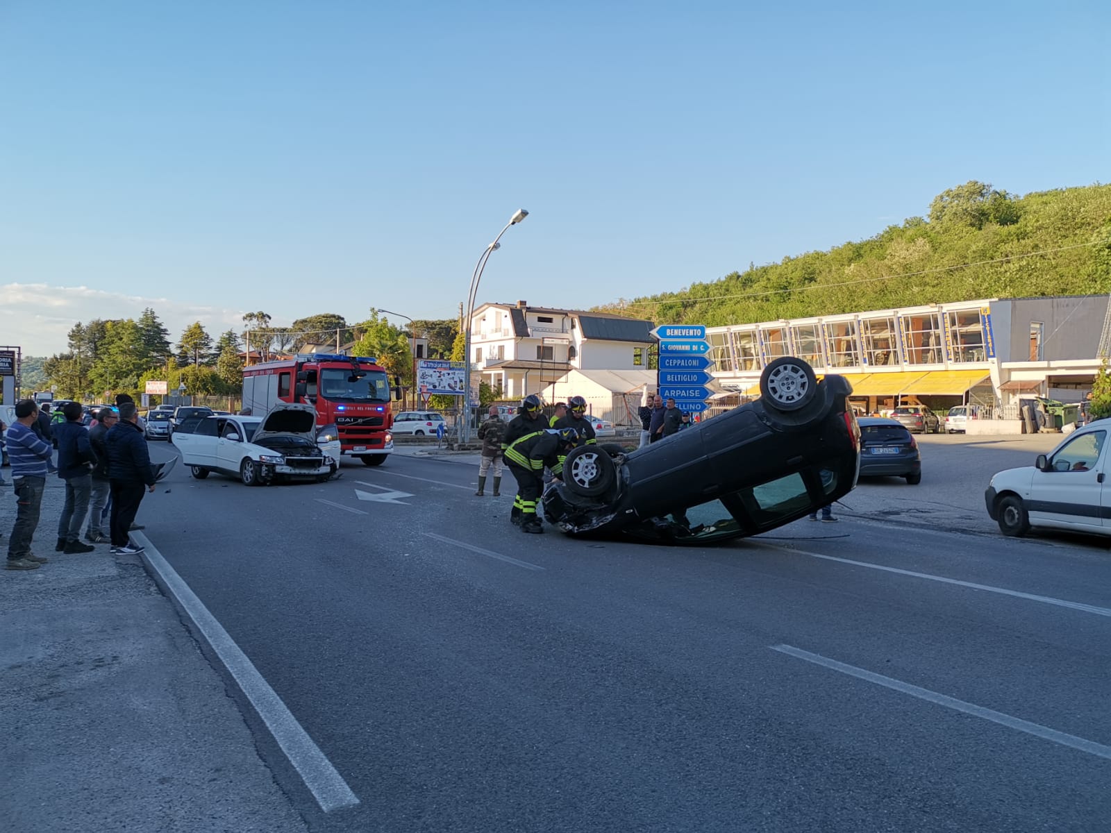
[[[857,484],[860,429],[843,377],[818,382],[783,357],[761,398],[625,452],[584,445],[544,491],[544,518],[569,534],[701,545],[781,526]]]

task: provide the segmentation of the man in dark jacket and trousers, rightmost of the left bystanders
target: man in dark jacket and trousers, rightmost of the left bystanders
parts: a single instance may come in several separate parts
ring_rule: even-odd
[[[154,472],[150,466],[147,440],[139,430],[139,411],[134,402],[120,403],[119,413],[120,421],[104,435],[112,494],[112,552],[132,555],[142,552],[143,548],[131,543],[128,531],[139,511],[143,490],[154,491]]]

